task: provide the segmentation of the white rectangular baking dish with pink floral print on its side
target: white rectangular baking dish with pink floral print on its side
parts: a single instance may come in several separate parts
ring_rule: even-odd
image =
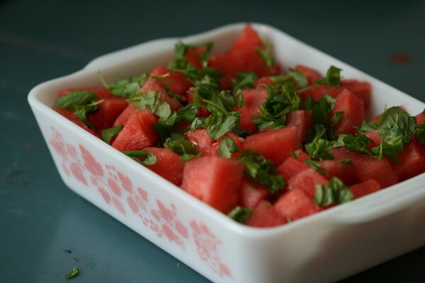
[[[232,44],[244,23],[183,38]],[[425,104],[276,28],[254,24],[284,67],[295,64],[369,81],[373,108]],[[51,109],[57,91],[135,76],[173,57],[176,38],[154,40],[95,59],[77,73],[41,83],[28,101],[57,169],[71,190],[213,282],[332,282],[425,245],[425,174],[292,224],[253,229],[196,200]]]

